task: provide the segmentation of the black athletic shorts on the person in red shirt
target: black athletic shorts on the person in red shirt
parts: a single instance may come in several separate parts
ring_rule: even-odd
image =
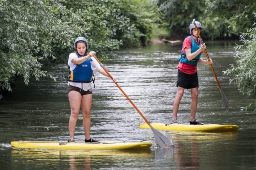
[[[192,89],[199,87],[198,83],[198,73],[195,74],[186,74],[178,69],[178,81],[177,87],[182,87],[184,89]]]

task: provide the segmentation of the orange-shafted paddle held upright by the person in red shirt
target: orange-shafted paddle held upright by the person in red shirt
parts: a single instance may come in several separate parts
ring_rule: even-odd
[[[195,26],[195,28],[196,28],[196,30],[197,30],[197,32],[198,32],[199,40],[200,40],[201,44],[203,44],[203,40],[202,40],[202,38],[201,38],[201,36],[200,36],[200,34],[199,34],[198,27],[197,27],[195,21],[196,21],[196,19],[193,19],[192,24],[194,24],[194,26]],[[206,49],[204,49],[204,53],[205,53],[205,55],[206,55],[206,57],[207,57],[208,62],[210,62],[210,58],[209,58],[209,55],[208,55]],[[228,111],[228,99],[227,99],[226,95],[225,95],[225,94],[222,92],[222,90],[221,90],[220,83],[219,83],[219,81],[218,81],[218,78],[217,78],[217,76],[216,76],[216,74],[215,74],[215,71],[214,71],[214,69],[213,69],[213,65],[212,65],[211,63],[210,63],[210,66],[211,66],[211,69],[212,69],[212,72],[213,72],[213,76],[214,76],[214,78],[215,78],[215,80],[216,80],[216,83],[217,83],[217,85],[218,85],[218,89],[220,90],[221,97],[222,97],[222,100],[223,100],[223,102],[224,102],[226,111]]]

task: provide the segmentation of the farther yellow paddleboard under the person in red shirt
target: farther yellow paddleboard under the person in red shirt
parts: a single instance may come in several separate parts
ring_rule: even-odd
[[[190,124],[170,124],[164,123],[151,123],[151,126],[157,130],[168,131],[209,131],[209,132],[224,132],[224,131],[237,131],[237,125],[219,125],[219,124],[203,124],[203,125],[190,125]],[[150,129],[146,123],[140,123],[140,128]]]

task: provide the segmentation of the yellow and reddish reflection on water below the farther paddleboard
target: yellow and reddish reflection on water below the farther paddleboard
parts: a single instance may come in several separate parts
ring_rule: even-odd
[[[189,134],[177,133],[179,136],[173,137],[175,141],[174,155],[175,164],[179,170],[199,170],[200,162],[204,159],[202,155],[206,150],[202,149],[204,145],[211,146],[213,144],[225,141],[235,140],[237,133],[203,133],[192,132]],[[175,136],[177,135],[175,134]]]

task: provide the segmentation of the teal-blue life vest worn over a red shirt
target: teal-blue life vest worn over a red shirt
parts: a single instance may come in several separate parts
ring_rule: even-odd
[[[195,39],[193,39],[191,36],[189,36],[189,38],[191,39],[191,53],[196,52],[200,47],[201,47],[201,42],[199,42],[199,45],[197,45]],[[179,62],[181,63],[186,63],[186,64],[190,64],[190,65],[198,65],[198,60],[201,56],[201,52],[193,59],[193,60],[188,60],[186,58],[186,53],[181,51],[181,57],[179,58]]]

